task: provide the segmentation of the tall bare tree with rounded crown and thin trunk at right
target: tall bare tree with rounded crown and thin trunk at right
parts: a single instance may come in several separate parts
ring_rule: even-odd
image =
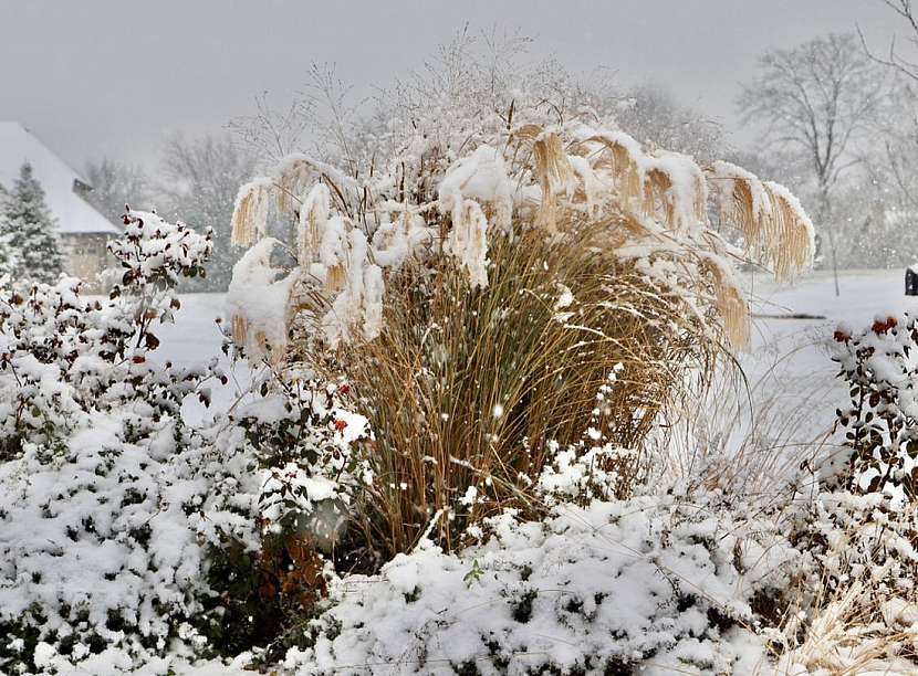
[[[760,75],[743,87],[747,122],[765,123],[764,139],[806,156],[816,183],[815,216],[828,241],[838,295],[838,236],[832,197],[839,177],[858,162],[855,141],[866,134],[886,91],[885,72],[854,34],[832,34],[760,57]]]

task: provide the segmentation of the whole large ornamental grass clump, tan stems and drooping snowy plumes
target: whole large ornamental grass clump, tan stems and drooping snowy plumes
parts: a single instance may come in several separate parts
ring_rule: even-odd
[[[813,256],[795,200],[732,166],[646,150],[611,117],[539,97],[451,133],[453,104],[435,97],[389,134],[383,162],[379,148],[350,172],[283,160],[233,216],[251,245],[234,340],[347,385],[374,435],[352,525],[384,558],[426,535],[455,547],[503,507],[538,511],[559,453],[603,458],[605,494],[628,495],[651,426],[749,338],[743,252],[708,222],[712,198],[779,276]],[[285,276],[273,221],[298,232]]]

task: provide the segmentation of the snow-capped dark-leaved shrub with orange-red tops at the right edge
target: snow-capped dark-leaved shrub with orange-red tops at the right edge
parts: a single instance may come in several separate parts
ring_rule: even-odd
[[[849,388],[838,409],[846,429],[842,478],[852,490],[877,492],[900,507],[918,497],[918,320],[878,316],[865,330],[839,327],[833,359]]]

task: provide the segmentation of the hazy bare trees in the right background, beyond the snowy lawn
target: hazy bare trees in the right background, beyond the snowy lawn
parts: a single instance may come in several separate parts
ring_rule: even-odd
[[[910,1],[887,4],[918,38]],[[739,98],[761,129],[745,166],[801,197],[826,268],[918,261],[918,70],[889,54],[858,33],[770,50]]]

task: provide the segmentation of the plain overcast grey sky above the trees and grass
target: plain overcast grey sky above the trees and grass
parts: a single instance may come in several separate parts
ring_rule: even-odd
[[[734,101],[762,50],[856,22],[878,46],[904,33],[880,0],[0,0],[0,120],[75,167],[149,165],[165,133],[219,130],[263,91],[289,101],[312,62],[385,86],[466,22],[520,28],[573,71],[666,85],[740,139]]]

